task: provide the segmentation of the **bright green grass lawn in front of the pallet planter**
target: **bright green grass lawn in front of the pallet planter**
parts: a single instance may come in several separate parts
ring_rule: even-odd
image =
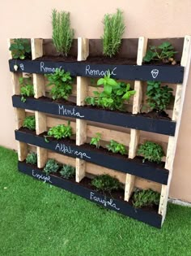
[[[0,147],[1,256],[191,255],[191,208],[168,205],[162,229],[17,171]]]

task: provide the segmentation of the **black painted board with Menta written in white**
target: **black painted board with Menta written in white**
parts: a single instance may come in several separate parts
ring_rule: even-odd
[[[86,119],[93,122],[112,124],[125,128],[134,128],[146,132],[155,132],[164,135],[174,136],[176,122],[168,119],[152,119],[142,115],[132,115],[115,111],[105,111],[86,106],[62,105],[56,102],[45,102],[40,99],[27,98],[21,102],[20,96],[12,97],[13,106],[40,111],[53,115],[64,115],[73,118]]]

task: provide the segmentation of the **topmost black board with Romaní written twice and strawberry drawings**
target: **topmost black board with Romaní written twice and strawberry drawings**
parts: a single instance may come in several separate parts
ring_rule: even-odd
[[[15,59],[9,60],[10,71],[14,71]],[[103,77],[108,69],[115,79],[126,80],[158,80],[169,83],[182,83],[184,67],[180,66],[155,66],[155,65],[109,65],[91,64],[84,62],[52,62],[40,60],[17,60],[17,72],[49,74],[56,68],[70,72],[71,76]]]

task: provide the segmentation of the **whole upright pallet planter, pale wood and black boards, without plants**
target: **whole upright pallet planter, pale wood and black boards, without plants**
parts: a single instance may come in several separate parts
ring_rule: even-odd
[[[62,63],[39,59],[44,54],[43,41],[43,39],[31,39],[32,60],[17,60],[16,64],[19,67],[17,71],[14,70],[15,60],[10,60],[14,85],[12,100],[16,115],[15,138],[18,141],[19,171],[160,228],[166,215],[189,74],[190,37],[185,37],[180,66],[174,67],[142,65],[147,47],[145,37],[138,39],[137,61],[132,65],[88,63],[91,40],[81,37],[78,40],[78,60],[76,59],[75,62]],[[70,72],[71,76],[75,77],[70,103],[67,104],[47,98],[49,89],[46,86],[45,74],[55,72],[57,67]],[[116,79],[130,80],[130,85],[136,91],[133,99],[126,106],[128,112],[108,111],[86,105],[85,99],[92,96],[95,90],[95,81],[91,82],[90,78],[103,77],[108,70]],[[27,76],[26,73],[30,73],[32,77],[34,98],[27,98],[26,102],[22,102],[19,77]],[[153,119],[140,114],[142,102],[145,100],[146,80],[174,84],[172,87],[175,88],[175,101],[172,110],[169,111],[172,119]],[[101,90],[103,89],[100,88]],[[35,115],[35,132],[23,128],[23,120],[29,115]],[[74,132],[71,139],[45,141],[44,136],[47,135],[49,128],[58,124],[67,124],[68,121]],[[89,143],[96,132],[100,133],[100,143],[104,148],[109,141],[114,140],[125,145],[129,154],[110,154],[105,149],[93,148]],[[160,165],[142,163],[142,158],[137,155],[138,145],[149,139],[163,145],[166,154]],[[28,152],[31,151],[37,154],[36,166],[25,161]],[[67,180],[53,173],[46,176],[43,168],[49,158],[75,167],[75,179]],[[101,174],[117,177],[123,184],[117,195],[103,194],[93,189],[90,179]],[[135,188],[159,192],[159,209],[135,208],[131,200]]]

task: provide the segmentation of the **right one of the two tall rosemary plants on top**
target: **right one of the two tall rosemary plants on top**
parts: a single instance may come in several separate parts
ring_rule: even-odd
[[[104,15],[103,53],[112,57],[117,54],[121,46],[121,38],[125,31],[123,13],[117,9],[117,13]]]

